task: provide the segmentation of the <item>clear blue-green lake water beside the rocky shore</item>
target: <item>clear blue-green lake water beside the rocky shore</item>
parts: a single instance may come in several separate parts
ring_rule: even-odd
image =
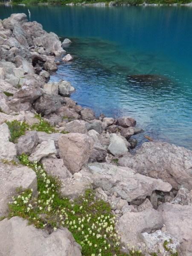
[[[29,9],[31,20],[73,41],[66,50],[74,61],[61,64],[52,81],[71,81],[72,98],[97,114],[133,116],[145,135],[192,149],[192,8]],[[23,6],[0,6],[1,19],[14,12],[28,14]],[[163,81],[128,78],[138,74]]]

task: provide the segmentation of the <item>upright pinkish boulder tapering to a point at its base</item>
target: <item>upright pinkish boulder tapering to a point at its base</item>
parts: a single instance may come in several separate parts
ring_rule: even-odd
[[[93,140],[86,134],[65,134],[58,140],[59,154],[71,173],[79,172],[87,163],[93,149]]]

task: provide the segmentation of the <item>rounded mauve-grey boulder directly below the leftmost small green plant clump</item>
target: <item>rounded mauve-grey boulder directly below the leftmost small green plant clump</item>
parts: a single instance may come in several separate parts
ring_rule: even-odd
[[[32,151],[38,144],[37,131],[27,131],[25,135],[21,136],[16,144],[17,155],[32,154]]]

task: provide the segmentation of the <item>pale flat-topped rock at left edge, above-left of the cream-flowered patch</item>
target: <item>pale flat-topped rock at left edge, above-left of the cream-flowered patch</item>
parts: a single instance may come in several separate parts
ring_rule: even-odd
[[[32,169],[26,166],[13,166],[0,163],[0,216],[8,211],[8,203],[16,194],[16,189],[33,189],[37,193],[37,177]],[[1,239],[0,239],[1,240]]]

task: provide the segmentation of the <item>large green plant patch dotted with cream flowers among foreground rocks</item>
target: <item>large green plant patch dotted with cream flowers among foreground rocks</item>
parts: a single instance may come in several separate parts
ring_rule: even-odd
[[[25,154],[20,163],[29,166],[37,174],[38,197],[32,190],[20,192],[9,204],[9,217],[20,216],[37,228],[49,233],[60,226],[67,227],[82,246],[84,256],[123,256],[120,252],[119,236],[115,231],[115,216],[111,207],[96,199],[94,192],[87,189],[74,201],[59,193],[60,182],[47,175],[39,163],[31,163]]]

